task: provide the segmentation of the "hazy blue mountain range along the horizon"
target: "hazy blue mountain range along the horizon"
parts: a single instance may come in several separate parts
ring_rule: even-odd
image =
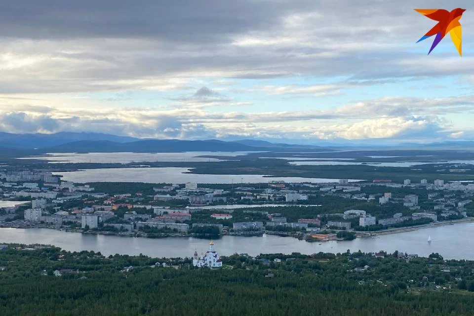
[[[322,145],[322,144],[320,144]],[[332,146],[331,146],[332,145]],[[178,140],[140,139],[103,133],[60,132],[55,134],[13,134],[0,132],[0,151],[31,151],[37,153],[86,153],[86,152],[235,152],[235,151],[328,151],[344,148],[368,149],[474,149],[474,141],[458,141],[433,144],[398,144],[393,146],[324,143],[323,146],[272,143],[264,140]]]

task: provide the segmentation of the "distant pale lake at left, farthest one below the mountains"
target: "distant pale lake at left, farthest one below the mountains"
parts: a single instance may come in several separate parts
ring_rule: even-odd
[[[130,162],[205,162],[224,161],[200,156],[237,157],[260,152],[184,152],[184,153],[48,153],[18,159],[48,160],[50,163],[130,163]]]

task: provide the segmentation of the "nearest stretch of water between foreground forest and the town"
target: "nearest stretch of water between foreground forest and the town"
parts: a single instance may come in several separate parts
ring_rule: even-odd
[[[380,237],[356,238],[351,241],[306,242],[292,237],[235,237],[224,236],[214,240],[216,250],[221,255],[233,253],[285,253],[300,252],[312,254],[319,251],[342,253],[361,250],[377,252],[395,250],[428,256],[432,252],[446,259],[474,260],[474,223],[429,227],[417,231],[383,235]],[[428,243],[431,236],[432,242]],[[194,250],[206,251],[208,240],[192,237],[176,238],[137,238],[105,235],[84,235],[49,229],[0,228],[0,243],[42,243],[52,244],[70,251],[93,250],[103,255],[128,254],[152,257],[191,257]]]

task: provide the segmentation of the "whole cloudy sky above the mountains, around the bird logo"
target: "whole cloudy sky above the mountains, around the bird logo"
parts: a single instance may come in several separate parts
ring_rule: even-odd
[[[413,9],[456,7],[427,55]],[[0,1],[4,132],[473,140],[473,96],[472,0]]]

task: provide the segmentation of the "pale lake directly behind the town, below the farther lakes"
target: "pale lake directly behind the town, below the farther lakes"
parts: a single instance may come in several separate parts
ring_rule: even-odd
[[[301,178],[301,177],[266,177],[261,174],[194,174],[186,173],[191,168],[103,168],[81,171],[53,172],[62,175],[63,180],[76,183],[86,182],[144,182],[144,183],[268,183],[269,181],[327,183],[339,179]],[[349,180],[350,182],[360,180]]]

